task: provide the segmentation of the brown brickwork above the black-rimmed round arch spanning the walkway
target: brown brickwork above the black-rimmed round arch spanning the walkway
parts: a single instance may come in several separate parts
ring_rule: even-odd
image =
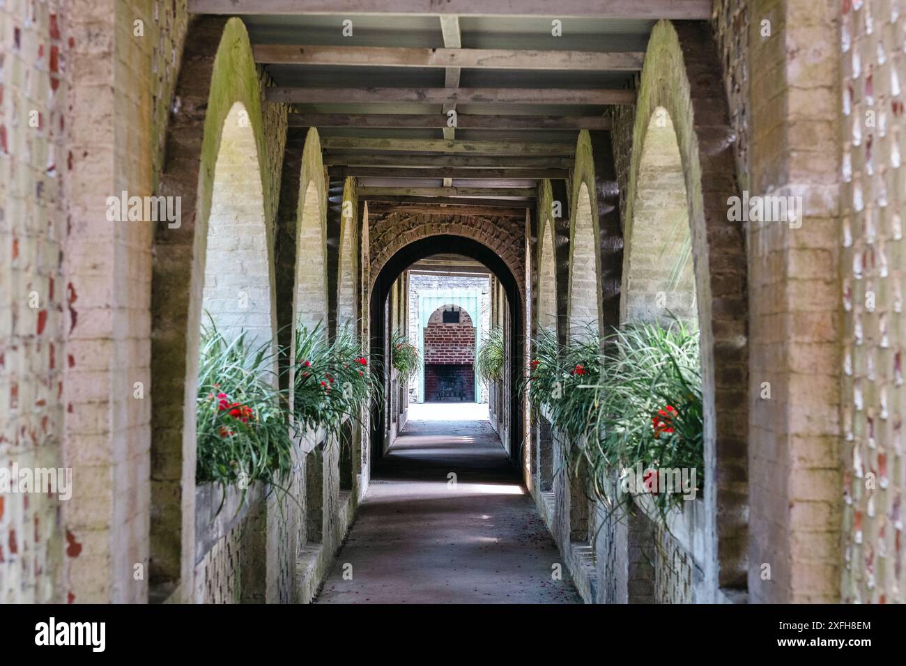
[[[381,269],[403,247],[430,236],[461,236],[487,246],[515,276],[520,294],[525,294],[525,219],[519,217],[472,217],[390,213],[371,224],[371,286]],[[455,252],[438,247],[439,252]]]

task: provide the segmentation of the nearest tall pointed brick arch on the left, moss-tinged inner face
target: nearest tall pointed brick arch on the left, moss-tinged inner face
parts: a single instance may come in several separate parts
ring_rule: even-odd
[[[151,285],[151,519],[149,588],[162,601],[193,592],[195,565],[195,401],[198,332],[208,217],[226,119],[239,102],[254,134],[265,182],[265,130],[259,79],[245,25],[202,17],[186,37],[158,194],[180,201],[178,227],[159,223]],[[262,187],[265,215],[275,209]],[[265,238],[268,262],[274,239]]]

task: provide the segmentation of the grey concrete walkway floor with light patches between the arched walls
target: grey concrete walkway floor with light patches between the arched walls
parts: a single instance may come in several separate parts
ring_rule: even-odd
[[[376,471],[315,603],[582,603],[487,420],[410,421]]]

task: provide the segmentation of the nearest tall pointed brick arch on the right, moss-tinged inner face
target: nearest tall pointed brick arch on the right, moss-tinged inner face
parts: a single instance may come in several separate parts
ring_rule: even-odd
[[[744,229],[727,215],[728,198],[737,194],[736,166],[720,81],[707,24],[655,25],[632,133],[624,275],[632,265],[633,218],[641,215],[636,202],[643,188],[651,188],[642,156],[659,140],[650,130],[660,127],[657,114],[663,109],[681,159],[701,336],[709,554],[702,565],[709,588],[741,589],[747,579],[747,443],[741,434],[747,425],[747,264]],[[626,312],[625,305],[621,309]]]

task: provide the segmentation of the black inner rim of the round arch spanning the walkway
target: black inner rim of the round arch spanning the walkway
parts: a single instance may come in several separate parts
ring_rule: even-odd
[[[521,380],[522,359],[524,354],[521,350],[524,343],[522,332],[523,327],[523,302],[516,276],[513,275],[510,268],[503,259],[500,258],[490,247],[485,246],[476,240],[464,236],[440,235],[429,236],[402,247],[396,254],[387,260],[387,263],[381,267],[381,272],[374,280],[371,286],[371,354],[381,359],[390,358],[390,330],[389,330],[389,312],[388,296],[390,288],[396,279],[410,265],[424,259],[428,256],[438,254],[439,248],[456,248],[458,255],[467,256],[486,265],[491,271],[506,293],[506,301],[509,304],[512,316],[509,321],[509,330],[506,332],[509,341],[514,347],[515,352],[510,354],[509,385],[516,387]],[[386,362],[377,364],[380,372],[381,382],[385,390],[389,391],[389,376],[386,372]],[[516,401],[513,396],[507,396],[513,405],[510,410],[509,418],[509,441],[504,442],[506,450],[510,454],[510,462],[515,469],[519,466],[519,452],[523,439],[522,429],[522,404]],[[375,408],[371,414],[371,454],[374,463],[378,463],[383,456],[384,441],[389,432],[384,410]]]

